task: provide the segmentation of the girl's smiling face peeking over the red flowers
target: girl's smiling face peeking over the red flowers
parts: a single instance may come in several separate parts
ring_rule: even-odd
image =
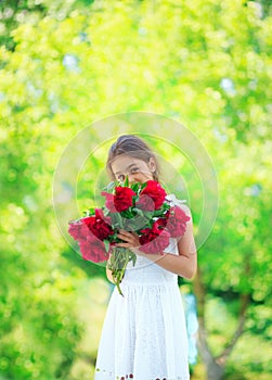
[[[114,160],[112,170],[118,181],[124,181],[126,176],[128,176],[129,183],[143,183],[154,179],[153,173],[156,170],[156,164],[153,157],[150,159],[147,164],[129,155],[119,155]]]

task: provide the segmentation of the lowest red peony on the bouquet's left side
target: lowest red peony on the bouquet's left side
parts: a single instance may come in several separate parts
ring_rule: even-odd
[[[89,231],[87,239],[79,240],[82,258],[93,263],[102,263],[108,259],[105,244]]]

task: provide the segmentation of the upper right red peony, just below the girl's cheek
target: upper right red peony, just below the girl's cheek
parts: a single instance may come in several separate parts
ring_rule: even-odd
[[[166,199],[166,191],[155,180],[147,180],[146,183],[146,187],[140,193],[137,205],[145,211],[158,210]],[[150,201],[147,201],[147,198]]]

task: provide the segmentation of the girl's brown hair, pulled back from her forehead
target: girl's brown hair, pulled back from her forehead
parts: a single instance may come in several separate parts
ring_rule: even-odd
[[[155,154],[152,152],[150,147],[142,139],[134,135],[122,135],[115,143],[109,148],[106,169],[111,179],[115,180],[115,175],[112,169],[112,163],[118,155],[128,155],[138,160],[144,161],[148,164],[150,159],[153,157],[156,164],[156,170],[153,173],[154,180],[158,181],[159,165]]]

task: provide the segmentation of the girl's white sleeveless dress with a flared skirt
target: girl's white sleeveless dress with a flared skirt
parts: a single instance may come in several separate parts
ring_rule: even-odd
[[[165,252],[178,254],[170,239]],[[187,334],[178,276],[150,259],[129,263],[111,296],[94,380],[189,380]]]

